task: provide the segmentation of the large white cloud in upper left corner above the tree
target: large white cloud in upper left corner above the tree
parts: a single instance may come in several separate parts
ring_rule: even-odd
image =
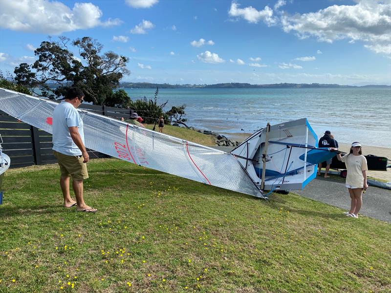
[[[101,21],[102,16],[99,7],[92,3],[76,2],[70,9],[58,1],[1,1],[0,25],[13,31],[61,34],[121,22]]]

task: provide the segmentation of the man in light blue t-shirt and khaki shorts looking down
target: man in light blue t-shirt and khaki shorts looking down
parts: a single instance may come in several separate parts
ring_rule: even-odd
[[[84,93],[70,88],[65,101],[53,111],[53,154],[61,171],[60,186],[64,196],[64,207],[76,207],[77,211],[96,212],[86,205],[83,198],[83,180],[88,178],[89,155],[84,146],[83,120],[76,110],[84,101]],[[70,176],[76,201],[69,194]]]

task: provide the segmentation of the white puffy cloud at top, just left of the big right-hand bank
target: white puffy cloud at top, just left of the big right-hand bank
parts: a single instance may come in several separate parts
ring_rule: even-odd
[[[265,6],[263,10],[258,11],[252,6],[239,8],[239,4],[235,1],[232,1],[228,14],[232,17],[241,17],[250,23],[258,23],[258,21],[263,21],[268,26],[271,26],[277,22],[276,18],[273,17],[273,10],[269,6]]]

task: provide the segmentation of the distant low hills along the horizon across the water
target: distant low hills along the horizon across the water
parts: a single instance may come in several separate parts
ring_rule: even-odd
[[[246,84],[246,83],[226,83],[226,84],[150,84],[150,83],[129,83],[121,82],[121,87],[125,88],[346,88],[346,87],[378,87],[391,88],[391,85],[340,85],[340,84]]]

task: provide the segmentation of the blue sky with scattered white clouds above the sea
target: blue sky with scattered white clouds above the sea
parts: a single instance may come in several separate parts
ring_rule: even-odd
[[[129,57],[126,82],[391,84],[391,0],[0,0],[4,75],[48,36]]]

